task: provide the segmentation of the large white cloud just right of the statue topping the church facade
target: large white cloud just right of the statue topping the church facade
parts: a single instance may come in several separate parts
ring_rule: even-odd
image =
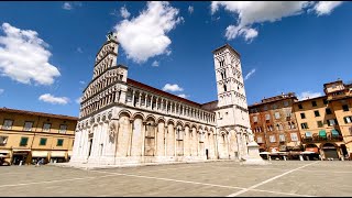
[[[168,54],[172,41],[166,33],[183,21],[177,18],[178,12],[168,2],[148,1],[147,9],[139,16],[118,23],[114,29],[128,58],[144,63],[151,57]]]

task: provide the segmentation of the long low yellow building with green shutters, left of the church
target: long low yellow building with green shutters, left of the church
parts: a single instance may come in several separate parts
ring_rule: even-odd
[[[66,162],[77,118],[0,108],[0,156],[10,164]]]

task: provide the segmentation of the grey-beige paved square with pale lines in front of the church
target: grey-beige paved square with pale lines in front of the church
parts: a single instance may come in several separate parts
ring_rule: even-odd
[[[272,161],[245,166],[210,162],[84,170],[1,166],[8,196],[351,196],[352,162]]]

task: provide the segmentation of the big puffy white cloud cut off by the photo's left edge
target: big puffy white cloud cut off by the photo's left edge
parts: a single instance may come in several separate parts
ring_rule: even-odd
[[[48,45],[37,37],[37,32],[20,30],[9,23],[1,26],[0,75],[22,84],[34,80],[41,85],[52,85],[54,77],[61,76],[58,69],[48,63],[52,53]]]

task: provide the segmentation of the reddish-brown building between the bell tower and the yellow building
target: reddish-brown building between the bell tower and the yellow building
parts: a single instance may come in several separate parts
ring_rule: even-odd
[[[300,151],[300,133],[293,106],[294,92],[282,94],[249,106],[251,128],[261,152]]]

